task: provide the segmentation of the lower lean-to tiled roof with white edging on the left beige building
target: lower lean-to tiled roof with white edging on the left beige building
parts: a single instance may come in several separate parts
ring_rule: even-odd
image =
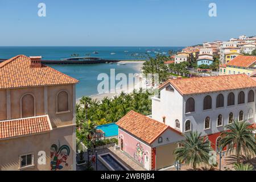
[[[0,139],[39,134],[51,130],[52,126],[47,115],[0,121]]]

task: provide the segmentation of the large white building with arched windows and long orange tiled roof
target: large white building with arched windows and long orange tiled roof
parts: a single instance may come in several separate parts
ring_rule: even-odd
[[[181,133],[199,131],[216,148],[233,120],[255,122],[255,90],[245,74],[169,80],[160,86],[160,98],[152,98],[152,119]]]

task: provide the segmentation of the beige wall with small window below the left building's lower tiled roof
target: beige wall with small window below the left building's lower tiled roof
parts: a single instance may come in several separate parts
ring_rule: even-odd
[[[34,164],[32,168],[26,170],[49,170],[50,160],[50,133],[30,135],[27,137],[0,140],[0,171],[19,170],[19,155],[34,154]],[[38,165],[38,152],[46,152],[46,165]]]

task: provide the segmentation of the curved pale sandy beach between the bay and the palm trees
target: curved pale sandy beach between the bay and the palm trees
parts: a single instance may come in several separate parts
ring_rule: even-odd
[[[144,61],[120,61],[119,63],[137,63],[137,73],[135,73],[135,82],[133,82],[133,84],[127,85],[127,89],[126,86],[123,89],[115,89],[115,90],[111,90],[111,93],[103,93],[103,94],[96,94],[96,95],[92,95],[90,96],[93,100],[97,99],[98,101],[101,101],[104,97],[109,97],[109,98],[113,98],[114,96],[118,96],[121,92],[125,92],[125,93],[131,93],[133,92],[134,89],[139,89],[139,88],[144,88],[146,87],[146,79],[142,78],[139,73],[142,73],[141,68],[142,65],[144,63]],[[76,102],[79,103],[81,98],[77,99]]]

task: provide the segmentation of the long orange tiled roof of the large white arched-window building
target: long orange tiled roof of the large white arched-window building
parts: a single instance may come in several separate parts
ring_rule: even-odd
[[[256,82],[245,74],[172,79],[159,88],[171,84],[181,94],[199,94],[256,87]]]

